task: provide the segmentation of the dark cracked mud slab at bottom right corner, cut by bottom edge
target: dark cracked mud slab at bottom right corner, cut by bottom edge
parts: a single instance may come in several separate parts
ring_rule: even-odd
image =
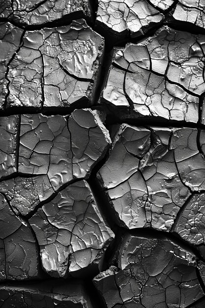
[[[108,308],[185,308],[203,296],[194,255],[166,238],[125,236],[117,268],[93,282]]]

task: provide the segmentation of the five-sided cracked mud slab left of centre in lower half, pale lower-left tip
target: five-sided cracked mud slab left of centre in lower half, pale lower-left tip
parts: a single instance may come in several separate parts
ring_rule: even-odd
[[[114,236],[85,181],[60,191],[29,223],[41,249],[42,266],[54,277],[64,277],[67,271],[72,274],[100,261],[100,254]]]

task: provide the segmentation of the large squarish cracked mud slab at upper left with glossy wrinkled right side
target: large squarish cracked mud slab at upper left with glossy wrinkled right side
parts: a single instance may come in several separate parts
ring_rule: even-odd
[[[2,103],[38,109],[90,105],[103,48],[104,39],[83,19],[69,26],[26,31],[21,48],[10,59]]]

